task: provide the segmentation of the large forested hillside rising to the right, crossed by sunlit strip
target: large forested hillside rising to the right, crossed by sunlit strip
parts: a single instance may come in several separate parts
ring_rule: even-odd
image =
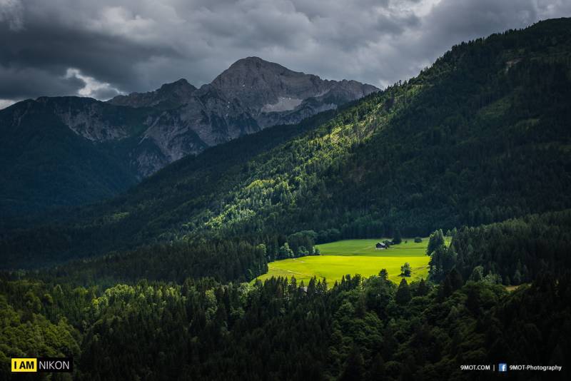
[[[275,148],[253,139],[208,150],[123,197],[4,233],[0,245],[69,258],[301,230],[412,236],[569,208],[570,26],[543,21],[460,44]]]

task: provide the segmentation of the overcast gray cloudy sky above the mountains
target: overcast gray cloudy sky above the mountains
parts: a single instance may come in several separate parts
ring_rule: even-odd
[[[383,88],[460,41],[562,16],[570,0],[0,0],[0,108],[201,86],[246,56]]]

